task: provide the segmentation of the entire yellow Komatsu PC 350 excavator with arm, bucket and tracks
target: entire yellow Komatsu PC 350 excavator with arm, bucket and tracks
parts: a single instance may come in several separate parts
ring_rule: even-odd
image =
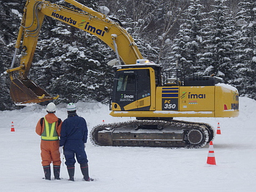
[[[38,103],[51,97],[28,79],[37,39],[46,16],[90,33],[116,52],[118,65],[111,98],[111,116],[136,120],[93,127],[91,140],[98,146],[203,147],[214,138],[206,123],[173,117],[236,117],[238,91],[214,76],[186,77],[163,74],[161,66],[143,59],[133,38],[119,23],[74,0],[81,11],[44,0],[27,0],[10,69],[10,94],[15,103]],[[22,42],[20,66],[14,67]],[[123,65],[121,64],[123,61]]]

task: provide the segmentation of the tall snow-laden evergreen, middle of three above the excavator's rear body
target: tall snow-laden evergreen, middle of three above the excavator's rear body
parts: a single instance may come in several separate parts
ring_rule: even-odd
[[[213,11],[209,13],[209,22],[205,25],[204,54],[205,75],[215,74],[228,82],[236,74],[234,65],[234,20],[228,13],[226,0],[214,0]]]

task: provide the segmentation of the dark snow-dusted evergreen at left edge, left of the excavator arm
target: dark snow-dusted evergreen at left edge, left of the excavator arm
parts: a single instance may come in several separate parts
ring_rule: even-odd
[[[0,110],[19,108],[11,100],[10,78],[9,75],[4,74],[4,71],[9,69],[12,63],[15,38],[18,34],[17,29],[22,17],[23,5],[25,5],[25,1],[0,1]]]

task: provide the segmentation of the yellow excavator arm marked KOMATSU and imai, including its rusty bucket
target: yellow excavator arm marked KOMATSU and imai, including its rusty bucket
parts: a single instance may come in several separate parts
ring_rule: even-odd
[[[45,15],[98,37],[116,52],[117,59],[120,57],[125,65],[131,65],[137,59],[143,59],[131,35],[118,23],[75,0],[65,1],[82,11],[69,9],[44,0],[27,0],[15,44],[12,65],[10,69],[6,70],[10,74],[10,94],[15,103],[38,103],[58,98],[58,95],[51,97],[27,77]],[[20,48],[21,40],[23,42],[20,66],[14,68],[15,57]]]

